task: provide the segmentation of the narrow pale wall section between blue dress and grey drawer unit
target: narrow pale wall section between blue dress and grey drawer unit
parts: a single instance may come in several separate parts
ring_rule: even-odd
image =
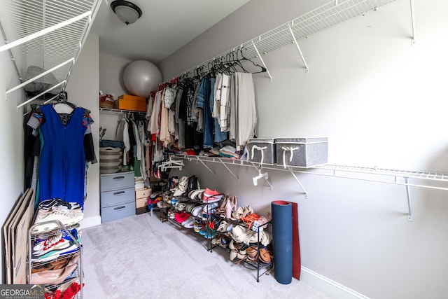
[[[91,111],[94,123],[92,136],[94,150],[99,159],[99,38],[90,34],[71,73],[66,92],[69,101]],[[101,223],[99,218],[99,163],[89,164],[87,170],[87,199],[84,204],[84,221],[81,225]]]

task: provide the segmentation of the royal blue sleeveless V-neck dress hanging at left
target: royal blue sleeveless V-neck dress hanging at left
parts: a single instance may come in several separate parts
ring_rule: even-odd
[[[84,203],[85,152],[84,109],[77,107],[64,125],[52,105],[41,106],[43,147],[39,162],[40,198],[59,197],[66,202]]]

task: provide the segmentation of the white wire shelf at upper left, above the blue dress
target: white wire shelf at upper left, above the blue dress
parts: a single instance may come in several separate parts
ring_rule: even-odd
[[[68,81],[101,1],[6,0],[4,2],[0,10],[0,29],[5,45],[0,49],[8,50],[20,81],[24,82],[38,75],[30,73],[29,67],[48,70],[56,66],[59,67],[52,70],[51,74],[46,74],[36,81],[38,86],[54,86],[55,82]],[[61,65],[62,62],[71,59],[73,60],[70,64]],[[45,92],[57,95],[59,91],[64,90],[65,85],[66,83],[51,92],[50,90]],[[6,94],[13,90],[8,90]]]

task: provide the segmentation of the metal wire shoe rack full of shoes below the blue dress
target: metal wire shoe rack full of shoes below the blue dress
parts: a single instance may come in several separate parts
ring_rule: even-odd
[[[36,232],[35,228],[39,225],[46,225],[49,224],[51,227],[55,227],[55,229],[43,231],[43,232]],[[75,225],[71,225],[70,227],[66,227],[64,224],[62,224],[61,221],[52,220],[52,221],[46,221],[41,223],[36,223],[34,225],[31,225],[31,228],[29,228],[29,255],[28,255],[28,284],[42,284],[41,279],[44,280],[52,280],[57,281],[57,283],[52,284],[43,284],[46,290],[52,290],[57,291],[58,289],[61,290],[69,288],[73,282],[76,281],[76,283],[79,284],[80,289],[78,293],[73,298],[82,299],[83,298],[83,246],[81,246],[80,242],[78,242],[78,239],[76,237],[73,237],[71,234],[71,230],[73,228],[78,229],[79,232],[79,223],[76,223]],[[38,241],[49,239],[51,237],[55,237],[60,232],[64,232],[66,235],[68,235],[71,239],[71,242],[73,242],[73,245],[76,246],[76,249],[71,250],[69,253],[61,253],[60,255],[57,255],[55,253],[56,258],[51,258],[48,256],[48,258],[44,258],[43,260],[32,260],[32,253],[33,253],[33,247],[38,243]],[[38,269],[48,269],[44,270],[42,272],[36,272]],[[57,270],[56,270],[57,269]],[[69,272],[71,272],[69,274]],[[62,277],[65,277],[62,281],[59,281]],[[61,292],[62,293],[62,292]],[[45,297],[47,298],[47,297]],[[48,297],[53,298],[53,297]],[[59,298],[55,296],[54,298]],[[61,295],[62,298],[62,295]]]

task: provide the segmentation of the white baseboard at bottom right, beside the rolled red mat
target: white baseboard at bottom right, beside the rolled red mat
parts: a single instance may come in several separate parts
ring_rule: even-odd
[[[307,267],[300,268],[300,281],[314,287],[316,290],[328,295],[333,299],[369,299],[366,295],[353,291],[351,288],[347,288],[338,282],[329,279],[313,270],[309,270]]]

